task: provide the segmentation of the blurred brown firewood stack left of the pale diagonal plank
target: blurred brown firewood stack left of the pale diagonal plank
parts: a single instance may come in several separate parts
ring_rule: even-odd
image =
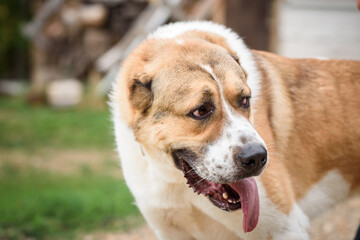
[[[94,62],[118,42],[147,1],[37,1],[24,31],[33,42],[32,94],[44,96],[51,81],[86,81]]]

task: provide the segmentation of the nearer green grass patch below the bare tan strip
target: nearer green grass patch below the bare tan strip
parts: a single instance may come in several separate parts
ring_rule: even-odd
[[[127,217],[138,215],[119,179],[18,173],[11,167],[0,174],[0,239],[72,238],[79,231],[127,229]]]

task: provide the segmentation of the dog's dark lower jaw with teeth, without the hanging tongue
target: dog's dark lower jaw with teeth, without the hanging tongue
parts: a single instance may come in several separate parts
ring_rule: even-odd
[[[215,183],[200,177],[181,156],[174,154],[174,161],[195,193],[207,196],[216,207],[225,211],[241,208],[239,194],[228,184]]]

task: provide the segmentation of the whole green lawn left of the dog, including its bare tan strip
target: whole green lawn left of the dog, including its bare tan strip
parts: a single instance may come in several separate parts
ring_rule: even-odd
[[[44,149],[51,149],[50,156],[69,149],[112,151],[109,119],[107,110],[55,110],[0,98],[0,239],[73,239],[141,222],[124,181],[108,174],[110,168],[118,170],[117,159],[100,154],[98,161],[107,167],[89,163],[97,171],[92,166],[69,173],[32,167]],[[22,156],[16,164],[14,152]],[[75,164],[76,157],[44,161],[66,169],[62,165]]]

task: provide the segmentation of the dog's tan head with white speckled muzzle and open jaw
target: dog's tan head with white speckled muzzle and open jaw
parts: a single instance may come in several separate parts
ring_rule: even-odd
[[[165,153],[195,192],[227,211],[252,198],[239,191],[256,183],[243,179],[267,162],[251,123],[251,73],[241,61],[223,36],[186,31],[145,41],[123,64],[118,83],[137,141],[150,155]]]

